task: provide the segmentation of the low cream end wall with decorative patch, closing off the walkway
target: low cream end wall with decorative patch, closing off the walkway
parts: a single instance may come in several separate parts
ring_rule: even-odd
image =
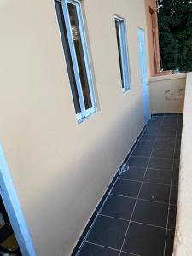
[[[150,78],[151,113],[183,113],[186,74]]]

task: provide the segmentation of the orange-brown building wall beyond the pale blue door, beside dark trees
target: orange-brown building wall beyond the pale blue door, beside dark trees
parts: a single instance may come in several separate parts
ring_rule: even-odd
[[[145,9],[146,9],[147,26],[148,26],[148,49],[149,49],[150,75],[154,76],[160,73],[160,45],[159,45],[156,0],[145,0]],[[153,12],[153,18],[152,18],[152,12]]]

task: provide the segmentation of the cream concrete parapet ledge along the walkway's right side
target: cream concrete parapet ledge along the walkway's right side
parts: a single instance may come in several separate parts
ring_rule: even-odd
[[[174,256],[192,255],[192,73],[187,74]]]

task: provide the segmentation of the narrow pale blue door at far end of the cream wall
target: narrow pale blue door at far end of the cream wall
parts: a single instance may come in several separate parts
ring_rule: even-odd
[[[145,39],[144,31],[141,28],[137,29],[138,36],[138,49],[139,49],[139,61],[140,61],[140,73],[143,86],[143,110],[145,122],[148,123],[150,119],[150,103],[149,103],[149,93],[148,93],[148,68],[145,52]]]

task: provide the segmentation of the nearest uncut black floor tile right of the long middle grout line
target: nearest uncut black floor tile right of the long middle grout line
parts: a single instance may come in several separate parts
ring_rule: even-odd
[[[132,221],[166,228],[168,205],[138,200]]]

